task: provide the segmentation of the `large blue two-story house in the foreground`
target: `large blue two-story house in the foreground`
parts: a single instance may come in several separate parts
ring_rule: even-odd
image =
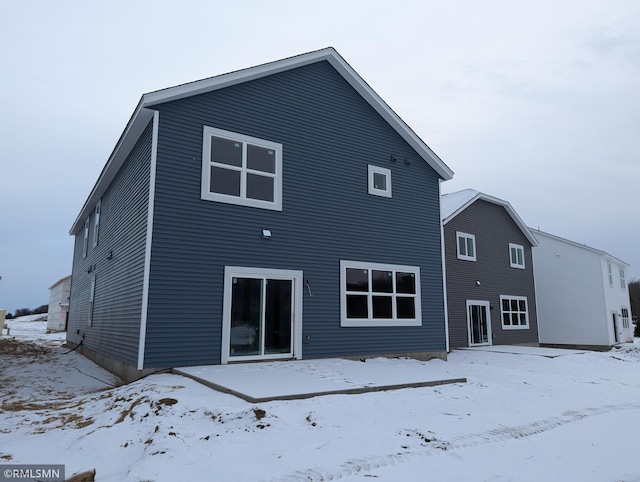
[[[71,228],[67,341],[127,379],[446,358],[452,175],[332,48],[145,94]]]

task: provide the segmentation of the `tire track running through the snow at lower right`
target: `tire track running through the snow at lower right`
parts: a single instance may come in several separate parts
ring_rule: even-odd
[[[488,443],[498,443],[507,440],[531,437],[550,430],[560,428],[564,425],[579,422],[587,417],[604,415],[607,413],[620,412],[624,410],[640,409],[640,403],[625,403],[621,405],[604,405],[602,407],[586,408],[582,411],[567,410],[560,416],[551,417],[545,420],[536,420],[526,425],[513,427],[499,427],[479,433],[458,435],[448,441],[432,439],[427,444],[421,444],[420,449],[406,450],[387,455],[372,455],[369,457],[359,457],[348,460],[338,467],[314,467],[306,470],[297,470],[288,475],[282,475],[268,479],[272,482],[320,482],[328,480],[339,480],[358,473],[367,473],[371,470],[388,467],[405,462],[414,458],[432,456],[443,451],[452,451]],[[417,434],[415,431],[405,430],[407,434]]]

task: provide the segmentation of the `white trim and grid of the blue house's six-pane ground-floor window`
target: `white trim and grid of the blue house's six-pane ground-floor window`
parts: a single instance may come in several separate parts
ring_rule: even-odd
[[[382,270],[382,271],[402,271],[415,274],[416,294],[415,294],[415,318],[347,318],[347,268]],[[371,287],[368,293],[358,292],[361,295],[367,295],[369,303],[369,313],[372,314],[371,308],[372,296]],[[395,276],[394,276],[394,292],[390,294],[394,301],[397,297],[403,297],[402,294],[395,293]],[[413,295],[404,295],[412,296]],[[395,315],[396,304],[393,303],[393,313]],[[367,263],[362,261],[340,260],[340,326],[422,326],[422,305],[420,292],[420,268],[418,266],[405,266],[398,264],[381,264]]]

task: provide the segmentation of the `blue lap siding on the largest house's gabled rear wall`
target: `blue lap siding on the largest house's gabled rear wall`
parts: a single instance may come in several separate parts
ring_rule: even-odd
[[[304,272],[304,358],[445,350],[438,175],[327,62],[154,108],[145,367],[220,363],[225,265]],[[204,125],[283,145],[281,212],[200,199]],[[420,266],[422,326],[340,327],[341,259]]]

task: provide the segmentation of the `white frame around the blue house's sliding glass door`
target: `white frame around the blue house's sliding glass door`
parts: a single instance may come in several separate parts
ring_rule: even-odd
[[[298,270],[252,268],[246,266],[224,267],[224,294],[222,305],[222,350],[220,363],[226,364],[234,360],[268,360],[282,359],[281,354],[232,357],[229,353],[231,341],[231,289],[233,278],[269,278],[269,279],[293,279],[293,358],[302,359],[302,279],[304,273]]]

